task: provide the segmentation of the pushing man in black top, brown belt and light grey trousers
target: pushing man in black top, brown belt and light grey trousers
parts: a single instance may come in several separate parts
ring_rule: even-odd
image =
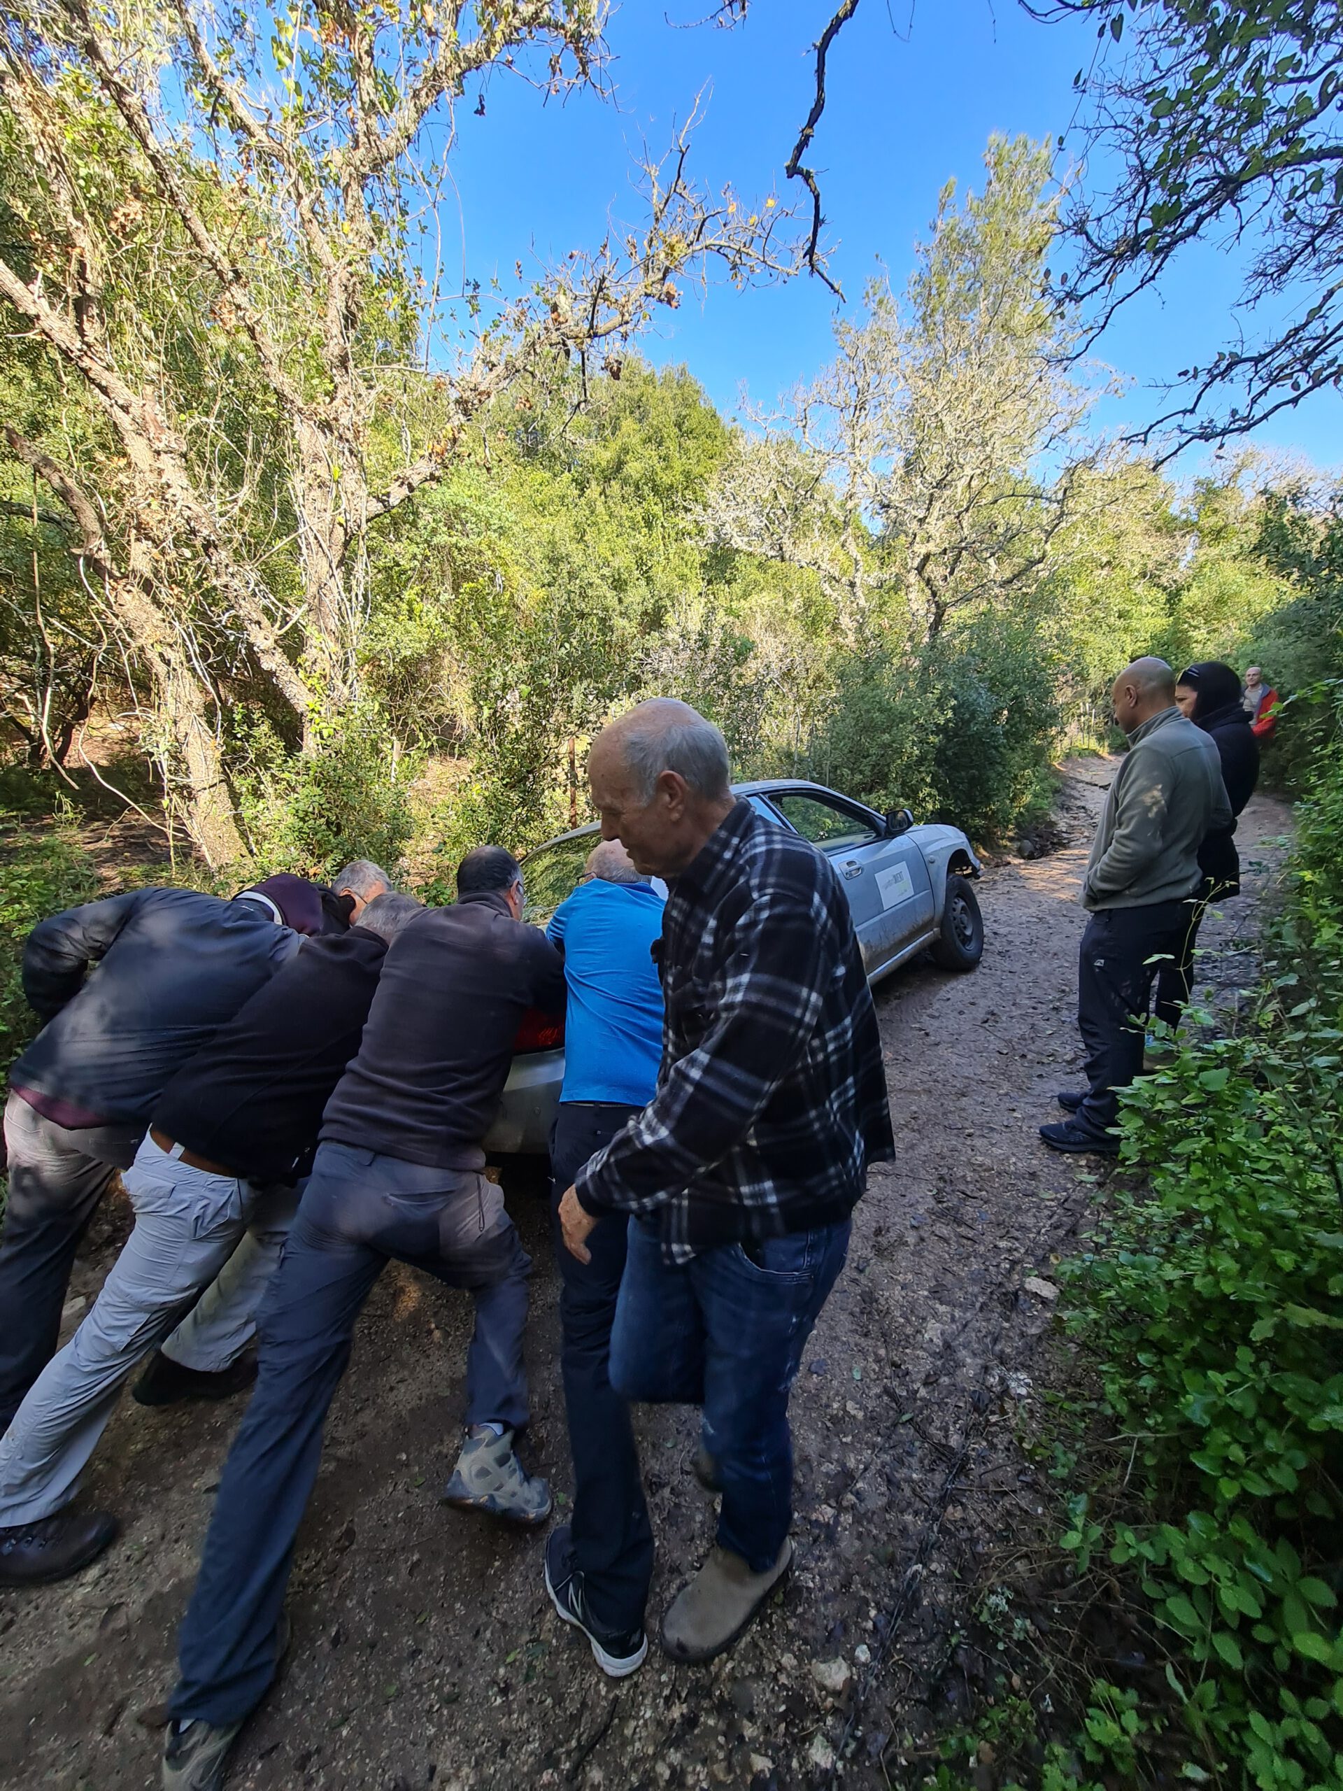
[[[125,1173],[134,1230],[0,1440],[0,1585],[61,1580],[116,1535],[109,1512],[66,1508],[122,1386],[183,1307],[208,1288],[201,1304],[245,1315],[251,1334],[387,944],[421,912],[410,896],[387,894],[347,931],[310,938],[154,1103]],[[256,1230],[265,1245],[249,1250]]]

